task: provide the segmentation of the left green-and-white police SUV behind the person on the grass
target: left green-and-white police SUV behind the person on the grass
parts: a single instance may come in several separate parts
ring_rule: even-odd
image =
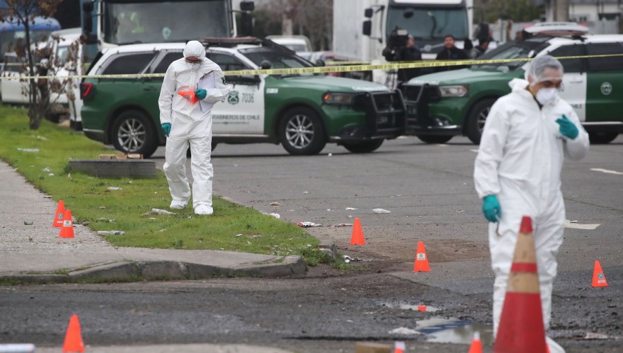
[[[270,40],[219,41],[207,43],[207,55],[223,71],[311,66]],[[183,43],[132,44],[100,53],[80,85],[84,134],[145,156],[164,145],[161,78],[88,76],[165,73],[183,48]],[[213,108],[213,144],[281,143],[290,154],[318,154],[333,142],[365,153],[404,133],[401,93],[380,84],[311,73],[227,75],[226,80],[233,90]]]

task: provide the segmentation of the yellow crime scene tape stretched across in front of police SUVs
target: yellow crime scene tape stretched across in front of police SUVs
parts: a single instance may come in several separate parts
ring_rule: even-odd
[[[597,57],[623,57],[623,54],[604,54],[604,55],[576,55],[557,57],[558,60],[570,60],[570,59],[587,59]],[[446,60],[435,61],[425,60],[418,62],[392,62],[386,64],[362,64],[362,65],[346,65],[346,66],[314,66],[314,67],[299,67],[288,69],[248,69],[248,70],[234,70],[223,71],[225,76],[239,76],[239,75],[297,75],[299,73],[344,73],[344,72],[356,72],[356,71],[374,71],[374,70],[392,70],[392,69],[421,69],[431,67],[444,67],[444,66],[471,66],[471,65],[486,65],[486,64],[504,64],[509,62],[529,62],[532,58],[516,58],[516,59],[489,59],[489,60]],[[218,63],[217,63],[218,64]],[[163,78],[164,73],[124,73],[113,75],[46,75],[46,76],[19,76],[8,77],[3,76],[3,79],[8,80],[31,80],[31,79],[71,79],[71,78]]]

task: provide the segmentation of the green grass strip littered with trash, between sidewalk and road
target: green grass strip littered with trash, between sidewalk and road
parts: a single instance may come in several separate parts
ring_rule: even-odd
[[[63,200],[76,221],[89,221],[93,230],[123,230],[125,235],[105,236],[115,246],[303,255],[312,265],[318,262],[318,240],[295,224],[216,196],[213,216],[197,216],[190,206],[175,210],[175,215],[144,215],[152,208],[168,210],[171,197],[161,170],[154,179],[106,179],[71,172],[71,159],[98,159],[111,150],[48,121],[32,131],[25,109],[0,106],[0,126],[0,159],[42,192]],[[111,186],[122,190],[107,190]]]

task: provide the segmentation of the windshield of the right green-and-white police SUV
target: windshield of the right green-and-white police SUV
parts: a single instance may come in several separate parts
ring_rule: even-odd
[[[511,41],[507,42],[503,46],[498,46],[493,51],[486,53],[478,57],[478,60],[508,60],[508,59],[525,59],[532,53],[532,56],[536,55],[543,49],[548,46],[548,42],[544,41],[542,38],[539,39],[528,39],[525,41]],[[516,62],[502,62],[496,64],[485,64],[485,65],[474,65],[471,66],[472,69],[481,69],[481,68],[499,68],[502,66],[506,66],[509,69],[516,69],[519,66],[525,64],[525,60],[519,60]]]

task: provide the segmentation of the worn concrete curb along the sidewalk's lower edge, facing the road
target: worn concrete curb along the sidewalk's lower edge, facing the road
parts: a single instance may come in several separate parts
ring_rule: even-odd
[[[89,269],[58,274],[5,274],[0,283],[51,284],[73,282],[133,282],[139,280],[199,280],[212,277],[278,278],[305,275],[307,264],[303,257],[278,257],[278,262],[244,264],[224,267],[177,261],[123,261]]]

